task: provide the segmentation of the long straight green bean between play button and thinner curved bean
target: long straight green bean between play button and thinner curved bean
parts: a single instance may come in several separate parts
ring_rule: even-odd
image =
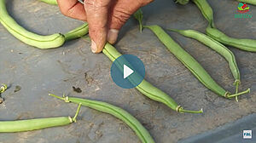
[[[206,70],[184,49],[182,49],[175,41],[172,40],[166,31],[160,26],[144,26],[151,31],[160,39],[169,51],[174,54],[178,60],[180,60],[184,66],[186,66],[190,72],[192,72],[197,79],[203,83],[208,89],[211,89],[214,93],[223,96],[225,98],[236,97],[240,94],[248,93],[250,90],[247,89],[244,92],[238,94],[230,94],[216,83],[212,77],[206,72]]]

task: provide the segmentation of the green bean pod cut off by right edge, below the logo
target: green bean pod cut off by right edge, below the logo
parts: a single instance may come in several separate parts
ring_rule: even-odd
[[[207,26],[207,35],[225,45],[230,45],[249,52],[256,52],[256,40],[228,37],[222,31],[210,26]]]

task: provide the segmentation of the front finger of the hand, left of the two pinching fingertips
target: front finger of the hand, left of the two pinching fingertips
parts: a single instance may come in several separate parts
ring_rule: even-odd
[[[86,0],[84,3],[93,53],[102,52],[107,41],[109,3],[110,0]]]

